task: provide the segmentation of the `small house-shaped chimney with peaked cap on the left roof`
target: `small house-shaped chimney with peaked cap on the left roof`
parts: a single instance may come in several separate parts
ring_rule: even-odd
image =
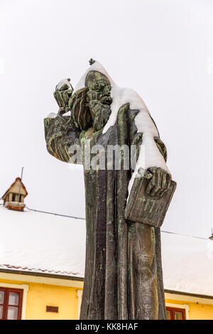
[[[24,198],[26,198],[26,195],[28,195],[28,192],[25,185],[21,182],[21,178],[16,178],[15,182],[6,190],[6,193],[1,199],[4,200],[5,208],[23,211],[25,208]]]

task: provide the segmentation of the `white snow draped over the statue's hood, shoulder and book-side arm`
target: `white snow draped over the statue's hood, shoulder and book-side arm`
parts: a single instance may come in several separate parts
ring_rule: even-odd
[[[102,74],[108,77],[109,82],[111,83],[111,97],[112,97],[112,104],[111,104],[111,114],[107,124],[104,126],[103,134],[105,134],[111,126],[114,126],[117,119],[117,114],[119,112],[119,108],[126,104],[130,104],[130,109],[138,110],[138,114],[135,118],[135,124],[138,133],[143,133],[143,143],[141,145],[141,151],[138,157],[138,161],[136,163],[135,171],[131,177],[131,181],[129,182],[129,193],[131,192],[131,187],[133,185],[134,178],[138,173],[139,168],[147,169],[150,167],[160,167],[165,171],[168,170],[166,166],[165,160],[158,150],[158,147],[155,144],[154,137],[158,137],[158,129],[156,128],[153,119],[146,107],[146,104],[143,102],[143,99],[138,95],[135,90],[131,88],[123,88],[116,85],[116,83],[111,79],[107,70],[98,62],[92,64],[87,71],[82,75],[80,81],[78,82],[77,86],[75,87],[75,91],[79,90],[82,87],[85,87],[85,79],[87,73],[91,70],[97,70]]]

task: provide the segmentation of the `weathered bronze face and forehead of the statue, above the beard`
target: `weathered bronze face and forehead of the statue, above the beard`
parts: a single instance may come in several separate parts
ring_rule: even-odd
[[[87,96],[90,101],[96,99],[102,104],[111,104],[111,85],[106,75],[94,70],[89,71],[85,79],[85,86],[89,88]]]

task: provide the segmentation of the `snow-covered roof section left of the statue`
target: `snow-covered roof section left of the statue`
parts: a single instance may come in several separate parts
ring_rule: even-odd
[[[84,225],[80,219],[0,206],[0,269],[83,277]]]

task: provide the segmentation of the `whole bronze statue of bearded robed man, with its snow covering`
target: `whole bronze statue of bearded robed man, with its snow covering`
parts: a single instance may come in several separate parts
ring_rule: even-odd
[[[165,319],[160,226],[176,183],[141,97],[94,60],[73,90],[54,92],[47,149],[83,163],[86,264],[81,319]]]

